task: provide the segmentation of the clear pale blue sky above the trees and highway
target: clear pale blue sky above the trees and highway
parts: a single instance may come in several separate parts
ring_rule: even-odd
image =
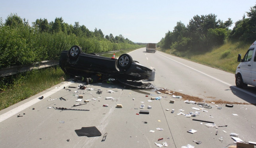
[[[50,22],[62,17],[65,23],[78,21],[91,31],[101,29],[104,35],[157,43],[178,21],[187,26],[193,16],[212,13],[235,23],[255,4],[255,0],[1,0],[0,17],[4,23],[8,15],[17,13],[30,25],[36,19]]]

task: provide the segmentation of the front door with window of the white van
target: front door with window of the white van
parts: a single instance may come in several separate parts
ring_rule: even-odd
[[[247,53],[245,54],[245,56],[243,58],[243,62],[241,62],[241,65],[240,65],[243,82],[246,84],[251,84],[253,51],[254,51],[254,48],[248,49]]]

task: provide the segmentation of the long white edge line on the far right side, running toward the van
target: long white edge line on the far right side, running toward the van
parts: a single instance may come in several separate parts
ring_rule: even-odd
[[[157,53],[157,54],[159,54],[159,53]],[[161,55],[161,56],[163,56],[163,57],[166,57],[166,56],[164,56],[164,55],[162,55],[162,54],[159,54],[159,55]],[[188,67],[188,68],[190,68],[190,69],[193,69],[193,70],[195,70],[195,71],[197,71],[197,72],[199,72],[199,73],[201,73],[201,74],[204,74],[204,75],[206,75],[206,76],[208,76],[208,77],[211,77],[211,78],[213,78],[213,79],[215,79],[215,80],[217,80],[217,81],[219,81],[219,82],[221,82],[221,83],[224,83],[224,84],[226,84],[226,85],[228,85],[228,86],[230,86],[230,87],[232,87],[232,88],[238,89],[238,90],[240,90],[240,91],[242,91],[242,92],[244,92],[244,93],[247,93],[247,94],[252,95],[253,97],[256,97],[256,95],[253,94],[253,93],[251,93],[251,92],[248,92],[248,91],[243,90],[243,89],[241,89],[241,88],[235,87],[235,86],[233,86],[233,85],[231,85],[231,84],[229,84],[229,83],[227,83],[227,82],[224,82],[223,80],[220,80],[220,79],[215,78],[215,77],[213,77],[213,76],[211,76],[211,75],[209,75],[209,74],[206,74],[206,73],[204,73],[204,72],[201,72],[201,71],[199,71],[199,70],[196,70],[196,69],[194,69],[194,68],[192,68],[192,67],[190,67],[190,66],[188,66],[188,65],[185,65],[185,64],[183,64],[183,63],[181,63],[181,62],[178,62],[178,61],[175,61],[175,60],[173,60],[173,59],[171,59],[171,58],[169,58],[169,57],[166,57],[166,58],[168,58],[168,59],[170,59],[170,60],[172,60],[172,61],[174,61],[174,62],[177,62],[177,63],[179,63],[179,64],[182,64],[182,65],[184,65],[184,66],[186,66],[186,67]]]

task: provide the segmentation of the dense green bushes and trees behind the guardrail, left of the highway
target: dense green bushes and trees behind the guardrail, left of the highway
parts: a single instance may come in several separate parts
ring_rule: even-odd
[[[69,25],[62,17],[50,22],[45,18],[36,19],[32,26],[17,14],[8,15],[4,23],[0,17],[0,68],[56,60],[62,50],[73,45],[81,46],[85,53],[142,47],[122,34],[104,35],[101,29],[90,31],[79,22]]]

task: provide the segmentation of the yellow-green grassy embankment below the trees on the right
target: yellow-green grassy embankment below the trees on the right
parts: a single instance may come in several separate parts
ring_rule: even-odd
[[[165,53],[179,56],[190,61],[201,63],[213,68],[221,69],[230,73],[236,73],[238,54],[242,54],[242,58],[251,44],[241,42],[227,42],[226,44],[216,47],[207,53],[178,52],[176,50],[162,50]]]

